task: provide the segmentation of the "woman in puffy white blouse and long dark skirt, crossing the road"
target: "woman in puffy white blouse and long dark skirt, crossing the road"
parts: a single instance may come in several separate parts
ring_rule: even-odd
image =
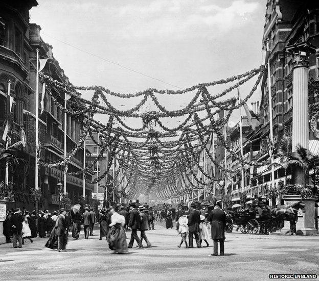
[[[116,207],[112,207],[110,213],[111,227],[108,232],[107,242],[108,247],[114,250],[114,253],[126,253],[127,252],[127,242],[126,235],[124,231],[125,218],[118,213]]]

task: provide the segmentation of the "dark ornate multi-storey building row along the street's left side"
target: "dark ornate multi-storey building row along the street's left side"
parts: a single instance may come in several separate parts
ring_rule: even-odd
[[[21,169],[9,171],[9,181],[14,184],[15,200],[8,203],[7,208],[16,206],[33,210],[35,187],[35,85],[36,85],[36,49],[39,49],[40,59],[47,58],[47,64],[42,70],[54,79],[70,83],[63,69],[52,54],[52,46],[43,42],[40,36],[41,28],[30,24],[29,10],[37,6],[35,0],[2,1],[0,3],[0,136],[2,137],[7,120],[10,123],[11,143],[21,139],[21,129],[25,132],[27,144],[21,157],[26,159],[26,165]],[[9,113],[8,81],[11,82],[10,95],[14,98],[13,107]],[[41,96],[42,85],[39,85]],[[52,89],[59,95],[63,105],[64,93]],[[39,103],[40,105],[40,103]],[[40,160],[44,162],[59,161],[64,150],[64,114],[53,103],[46,93],[44,110],[39,110],[39,141],[41,143]],[[67,116],[66,147],[71,151],[78,143],[83,128],[81,120]],[[5,142],[1,138],[1,144]],[[81,147],[69,163],[69,172],[83,168],[83,148]],[[86,151],[89,154],[88,151]],[[4,172],[0,172],[0,181],[4,180]],[[86,175],[86,194],[94,189],[93,171]],[[39,209],[56,210],[59,205],[58,181],[63,183],[61,168],[42,167],[39,174],[41,200]],[[63,192],[63,190],[62,190]],[[67,175],[66,192],[72,203],[78,203],[83,194],[83,174]]]

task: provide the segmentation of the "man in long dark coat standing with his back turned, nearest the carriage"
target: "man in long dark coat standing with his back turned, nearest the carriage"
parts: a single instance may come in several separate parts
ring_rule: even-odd
[[[220,256],[224,256],[226,214],[218,205],[216,205],[214,210],[209,214],[207,220],[211,222],[212,239],[214,240],[214,253],[212,253],[211,256],[217,256],[218,241],[220,246]]]

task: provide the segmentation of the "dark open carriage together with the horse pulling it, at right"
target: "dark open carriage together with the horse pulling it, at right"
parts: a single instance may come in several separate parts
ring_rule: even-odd
[[[239,229],[242,233],[269,234],[281,229],[286,220],[290,222],[290,233],[293,234],[295,233],[295,222],[298,219],[297,212],[304,208],[304,202],[298,202],[291,207],[274,208],[267,212],[264,212],[265,208],[261,214],[254,208],[242,212],[229,212],[226,215],[225,231],[231,233],[236,224],[236,231]]]

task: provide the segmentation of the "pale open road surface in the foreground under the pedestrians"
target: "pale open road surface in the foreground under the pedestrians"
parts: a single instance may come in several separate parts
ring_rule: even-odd
[[[45,248],[44,238],[21,249],[0,245],[0,280],[268,280],[268,274],[319,274],[317,236],[235,232],[226,234],[225,256],[211,257],[213,247],[179,249],[174,228],[164,223],[155,228],[147,232],[151,248],[124,255],[112,254],[99,230],[89,240],[82,231],[62,253]]]

